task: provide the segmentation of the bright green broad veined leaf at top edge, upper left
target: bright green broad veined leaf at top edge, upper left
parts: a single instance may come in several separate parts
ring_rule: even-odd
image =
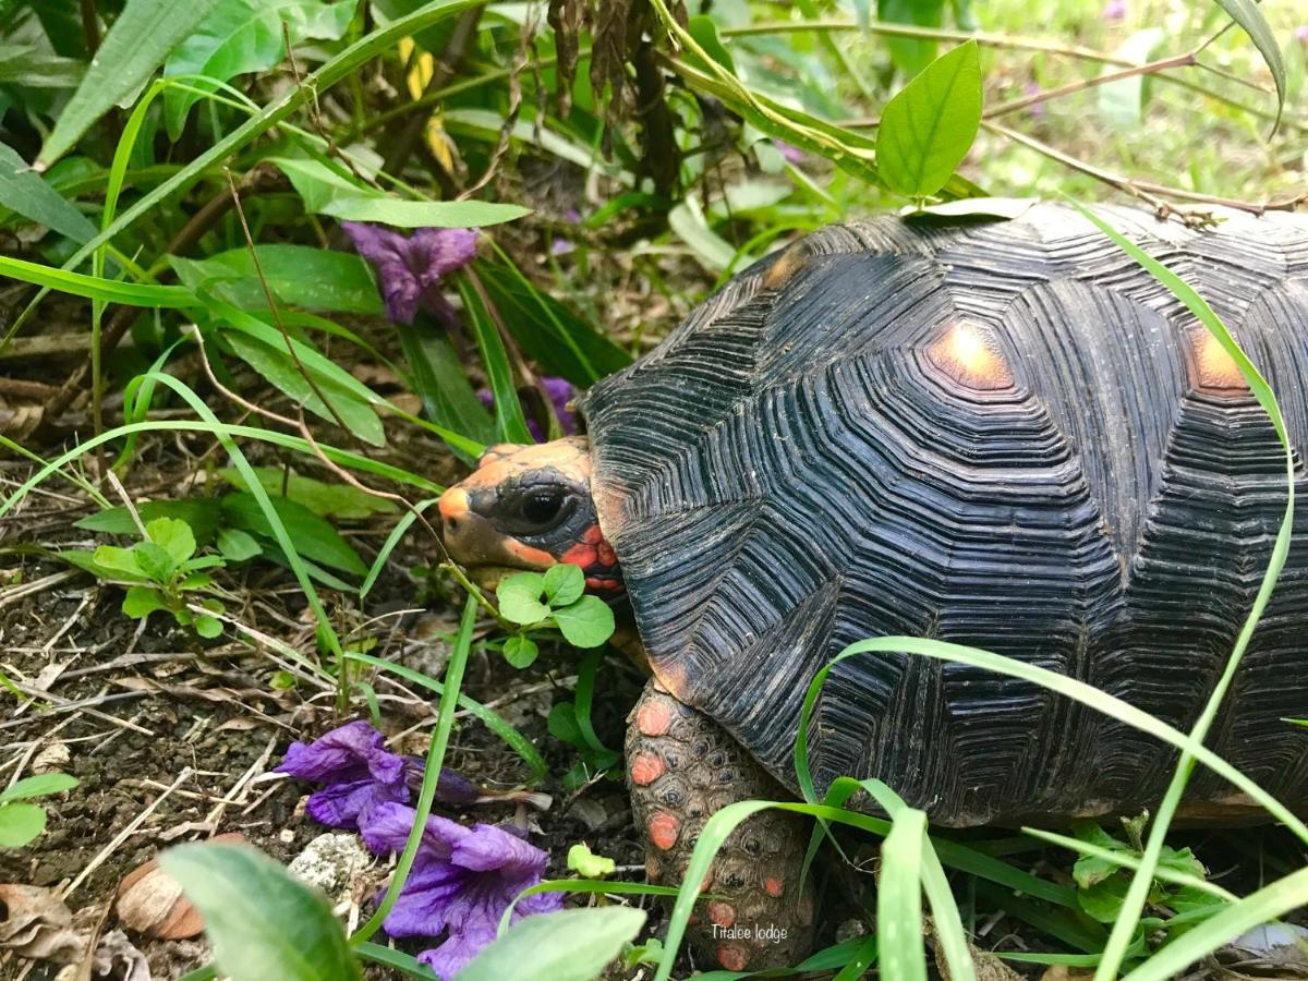
[[[187,37],[164,65],[167,76],[203,75],[218,82],[238,75],[275,68],[286,56],[283,25],[290,43],[309,38],[336,41],[354,14],[354,0],[218,0],[218,5]],[[187,85],[217,92],[216,84],[187,78]],[[201,95],[170,88],[164,93],[164,119],[175,141],[186,116]]]

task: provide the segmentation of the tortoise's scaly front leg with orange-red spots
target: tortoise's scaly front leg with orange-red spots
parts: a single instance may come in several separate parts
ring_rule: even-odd
[[[736,800],[785,800],[726,730],[651,680],[627,719],[627,774],[651,883],[679,886],[700,831]],[[729,971],[786,967],[812,943],[812,884],[800,889],[806,821],[789,811],[749,818],[726,840],[700,886],[687,937]]]

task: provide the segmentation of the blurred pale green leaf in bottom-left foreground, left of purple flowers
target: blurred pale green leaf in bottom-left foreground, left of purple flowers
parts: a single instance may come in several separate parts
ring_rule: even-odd
[[[358,963],[331,904],[245,845],[181,845],[160,865],[204,917],[213,959],[233,981],[356,981]]]

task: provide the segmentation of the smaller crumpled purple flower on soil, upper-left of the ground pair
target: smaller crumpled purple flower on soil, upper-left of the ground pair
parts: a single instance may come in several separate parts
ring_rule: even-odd
[[[409,776],[421,764],[392,753],[366,722],[334,729],[313,743],[292,743],[277,773],[326,783],[310,795],[305,812],[331,828],[353,828],[383,802],[409,799]]]

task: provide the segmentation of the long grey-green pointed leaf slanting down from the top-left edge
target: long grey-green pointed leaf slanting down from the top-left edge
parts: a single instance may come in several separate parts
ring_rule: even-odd
[[[92,123],[140,89],[217,4],[218,0],[127,0],[41,148],[42,164],[48,166],[64,156]]]

